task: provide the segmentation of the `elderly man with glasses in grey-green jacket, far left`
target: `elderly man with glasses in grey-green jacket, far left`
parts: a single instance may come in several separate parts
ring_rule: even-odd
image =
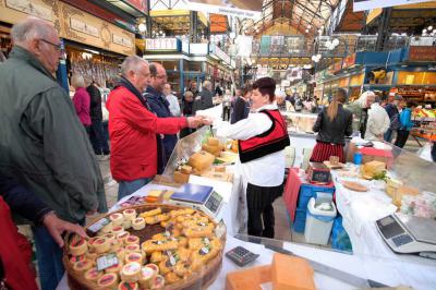
[[[14,47],[0,65],[0,169],[14,174],[56,215],[85,222],[106,212],[102,178],[87,134],[53,74],[61,46],[46,21],[28,17],[12,27]],[[62,250],[45,227],[33,228],[43,289],[63,276]]]

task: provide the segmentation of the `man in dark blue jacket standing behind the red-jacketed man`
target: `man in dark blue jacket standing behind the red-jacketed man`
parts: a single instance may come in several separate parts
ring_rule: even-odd
[[[150,63],[150,82],[147,86],[147,101],[152,108],[152,111],[159,118],[173,117],[170,111],[170,102],[164,96],[164,86],[167,83],[167,71],[159,63]],[[161,138],[158,136],[158,165],[157,173],[161,174],[170,159],[172,150],[175,147],[178,137],[175,134],[166,134]]]

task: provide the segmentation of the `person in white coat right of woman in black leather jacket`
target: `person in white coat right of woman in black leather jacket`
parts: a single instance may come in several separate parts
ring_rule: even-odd
[[[375,102],[371,105],[368,120],[366,124],[365,140],[383,141],[383,135],[388,131],[390,119],[385,108],[380,106],[380,98],[377,96]]]

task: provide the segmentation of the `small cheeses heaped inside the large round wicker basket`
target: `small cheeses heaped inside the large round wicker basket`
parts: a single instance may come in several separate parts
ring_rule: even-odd
[[[74,235],[69,243],[71,268],[95,288],[160,289],[202,270],[222,249],[215,223],[192,208],[164,213],[157,207],[140,215],[129,208],[108,218],[96,237]],[[156,223],[162,232],[143,243],[131,233]],[[108,254],[114,254],[118,264],[98,270],[97,258]]]

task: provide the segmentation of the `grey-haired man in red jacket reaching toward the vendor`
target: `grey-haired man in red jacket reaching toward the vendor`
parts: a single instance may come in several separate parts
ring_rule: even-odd
[[[206,124],[202,117],[158,118],[142,93],[149,83],[148,62],[128,57],[121,65],[121,81],[110,94],[109,111],[111,142],[110,170],[119,182],[118,200],[132,194],[157,172],[156,134],[177,134],[183,128]]]

